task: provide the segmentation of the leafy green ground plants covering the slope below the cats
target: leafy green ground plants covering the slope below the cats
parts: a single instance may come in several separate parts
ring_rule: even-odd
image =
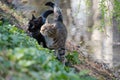
[[[67,57],[77,63],[78,54],[73,54]],[[64,66],[23,30],[1,21],[0,80],[96,80],[88,73]]]

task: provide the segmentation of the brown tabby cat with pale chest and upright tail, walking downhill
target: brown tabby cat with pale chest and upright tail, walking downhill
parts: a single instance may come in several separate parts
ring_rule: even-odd
[[[48,2],[46,5],[51,6],[49,3],[52,2]],[[47,47],[55,50],[57,59],[62,63],[65,63],[65,43],[67,39],[67,29],[63,23],[60,8],[54,3],[52,4],[52,7],[54,8],[54,22],[46,22],[44,25],[42,25],[40,32],[45,37]]]

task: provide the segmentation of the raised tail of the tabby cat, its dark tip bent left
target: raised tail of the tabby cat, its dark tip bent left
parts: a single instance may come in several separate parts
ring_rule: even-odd
[[[52,2],[47,2],[45,5],[54,8],[54,16],[55,16],[54,20],[55,21],[63,22],[63,16],[62,16],[61,9],[56,4]]]

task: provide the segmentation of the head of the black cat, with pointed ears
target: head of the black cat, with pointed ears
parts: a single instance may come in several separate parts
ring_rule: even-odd
[[[32,19],[28,23],[28,30],[30,32],[39,31],[42,25],[43,25],[42,17],[35,18],[35,16],[33,15]]]

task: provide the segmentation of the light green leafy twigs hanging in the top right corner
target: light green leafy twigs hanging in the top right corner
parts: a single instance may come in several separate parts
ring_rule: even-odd
[[[118,22],[118,28],[120,29],[120,1],[119,0],[101,0],[100,1],[100,11],[101,11],[101,26],[104,27],[106,21],[112,24],[113,17]],[[107,15],[107,17],[106,17]],[[107,20],[106,20],[107,18]]]

